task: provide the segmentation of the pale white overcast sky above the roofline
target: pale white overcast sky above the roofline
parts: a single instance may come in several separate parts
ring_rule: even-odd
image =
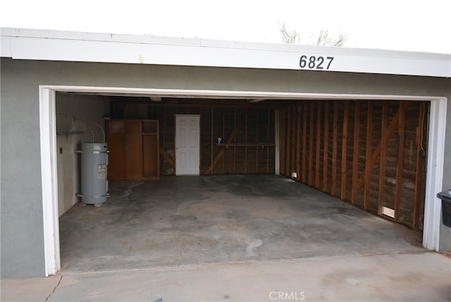
[[[311,44],[321,30],[345,47],[451,54],[451,0],[9,0],[0,27]]]

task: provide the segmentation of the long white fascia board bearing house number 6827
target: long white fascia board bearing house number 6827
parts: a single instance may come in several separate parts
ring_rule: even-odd
[[[304,69],[451,78],[451,54],[11,28],[1,30],[1,45],[1,56],[13,59]],[[302,56],[305,66],[300,64]],[[321,61],[323,63],[319,66]]]

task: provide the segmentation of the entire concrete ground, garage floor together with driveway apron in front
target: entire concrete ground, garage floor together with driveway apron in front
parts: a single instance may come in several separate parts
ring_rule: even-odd
[[[450,301],[421,234],[282,176],[113,182],[60,220],[62,270],[1,301]]]

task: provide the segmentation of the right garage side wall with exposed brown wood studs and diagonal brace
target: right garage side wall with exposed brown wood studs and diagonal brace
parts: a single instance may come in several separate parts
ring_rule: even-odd
[[[421,229],[428,107],[373,100],[282,107],[280,174],[378,215],[389,207],[393,220]]]

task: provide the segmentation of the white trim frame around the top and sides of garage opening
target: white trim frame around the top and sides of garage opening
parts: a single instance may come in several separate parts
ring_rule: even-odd
[[[124,87],[39,86],[39,124],[41,141],[42,206],[44,211],[44,253],[46,276],[60,270],[58,234],[58,183],[56,174],[55,92],[92,92],[99,94],[154,95],[177,97],[252,97],[267,99],[388,99],[431,102],[428,145],[426,197],[424,211],[423,245],[438,250],[440,238],[440,200],[442,191],[443,160],[445,157],[446,97],[419,97],[407,95],[330,95],[286,92],[243,92],[227,90],[171,90],[138,89]],[[276,159],[277,162],[278,159]]]

